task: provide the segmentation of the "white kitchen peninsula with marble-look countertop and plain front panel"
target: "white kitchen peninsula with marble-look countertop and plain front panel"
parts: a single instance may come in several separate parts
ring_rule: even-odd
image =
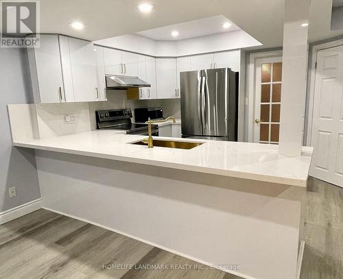
[[[243,278],[296,278],[311,147],[285,157],[277,145],[179,138],[202,145],[148,149],[132,144],[145,136],[109,130],[13,129],[14,146],[36,149],[45,209]]]

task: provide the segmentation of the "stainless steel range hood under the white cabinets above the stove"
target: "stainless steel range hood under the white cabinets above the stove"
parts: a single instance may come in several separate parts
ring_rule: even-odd
[[[138,77],[129,77],[125,75],[106,75],[106,89],[126,89],[151,87]]]

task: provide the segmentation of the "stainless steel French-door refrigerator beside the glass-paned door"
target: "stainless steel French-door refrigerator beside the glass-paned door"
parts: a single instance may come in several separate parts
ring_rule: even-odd
[[[182,137],[237,141],[237,72],[181,72],[180,95]]]

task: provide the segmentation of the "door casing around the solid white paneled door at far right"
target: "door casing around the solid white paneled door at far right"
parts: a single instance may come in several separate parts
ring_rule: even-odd
[[[333,40],[329,43],[322,43],[318,45],[313,45],[310,47],[311,55],[311,68],[309,69],[309,79],[307,84],[307,94],[308,94],[308,112],[305,114],[307,115],[307,133],[306,133],[306,145],[311,146],[312,140],[312,127],[314,121],[314,93],[315,93],[315,84],[316,84],[316,63],[317,63],[317,55],[318,51],[323,49],[331,49],[331,47],[339,47],[343,45],[343,39],[340,40]]]

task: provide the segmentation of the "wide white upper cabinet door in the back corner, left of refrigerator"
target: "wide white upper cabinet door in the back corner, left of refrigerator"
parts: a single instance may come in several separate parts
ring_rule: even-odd
[[[158,99],[177,97],[176,58],[156,58]]]

